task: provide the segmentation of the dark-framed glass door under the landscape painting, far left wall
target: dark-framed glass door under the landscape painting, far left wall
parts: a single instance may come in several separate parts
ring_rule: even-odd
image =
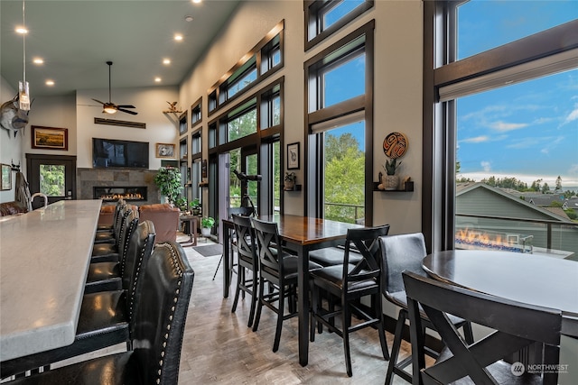
[[[76,156],[27,153],[26,179],[30,194],[45,194],[49,204],[76,199]],[[42,205],[42,199],[33,200],[33,208]]]

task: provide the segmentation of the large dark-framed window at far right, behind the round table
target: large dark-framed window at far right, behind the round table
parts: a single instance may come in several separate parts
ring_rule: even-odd
[[[474,244],[578,259],[567,209],[578,192],[578,8],[569,3],[425,3],[425,20],[442,22],[425,33],[435,58],[424,72],[424,127],[434,130],[424,128],[423,222],[433,250]],[[447,44],[435,46],[433,31],[446,31],[437,41]]]

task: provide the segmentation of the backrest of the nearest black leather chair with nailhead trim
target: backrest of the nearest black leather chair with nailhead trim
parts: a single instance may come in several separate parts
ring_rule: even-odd
[[[143,277],[133,347],[141,383],[178,383],[194,272],[179,243],[158,243]]]

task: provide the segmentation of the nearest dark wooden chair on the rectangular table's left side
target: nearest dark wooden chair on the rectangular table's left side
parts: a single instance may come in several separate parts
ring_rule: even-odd
[[[275,222],[261,221],[252,217],[251,224],[255,229],[260,274],[253,331],[256,332],[259,327],[263,307],[273,310],[277,315],[275,341],[273,343],[273,352],[276,352],[279,349],[283,321],[297,316],[297,307],[294,304],[299,261],[295,255],[284,251],[279,229]],[[321,268],[321,265],[312,261],[309,262],[310,271]],[[266,284],[269,288],[267,293],[265,293]],[[289,301],[287,314],[285,314],[285,299]]]

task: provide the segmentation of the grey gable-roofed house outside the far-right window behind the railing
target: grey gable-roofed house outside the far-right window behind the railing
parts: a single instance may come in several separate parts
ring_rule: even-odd
[[[578,224],[564,210],[550,211],[554,207],[546,209],[520,196],[481,182],[458,183],[455,233],[501,234],[507,243],[531,239],[534,252],[550,249],[548,252],[560,252],[563,257],[578,258]]]

